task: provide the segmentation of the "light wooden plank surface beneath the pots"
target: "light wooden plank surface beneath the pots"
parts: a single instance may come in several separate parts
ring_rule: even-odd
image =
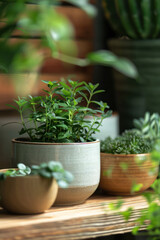
[[[122,210],[134,207],[128,222],[107,210],[107,205],[117,198],[102,194],[92,196],[84,204],[53,207],[43,214],[12,215],[0,209],[0,240],[71,240],[130,232],[147,203],[142,196],[123,197],[123,200]]]

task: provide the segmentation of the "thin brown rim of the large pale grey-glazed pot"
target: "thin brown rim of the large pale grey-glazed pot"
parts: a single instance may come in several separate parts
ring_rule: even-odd
[[[93,142],[75,142],[75,143],[49,143],[49,142],[30,142],[25,141],[27,138],[13,138],[12,143],[21,143],[21,144],[30,144],[30,145],[86,145],[86,144],[93,144],[93,143],[100,143],[100,140],[95,140]]]

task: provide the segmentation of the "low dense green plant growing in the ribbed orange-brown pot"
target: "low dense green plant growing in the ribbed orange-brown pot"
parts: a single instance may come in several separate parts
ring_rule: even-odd
[[[101,152],[112,154],[140,154],[149,153],[152,144],[135,129],[126,130],[121,136],[106,138],[101,142]]]

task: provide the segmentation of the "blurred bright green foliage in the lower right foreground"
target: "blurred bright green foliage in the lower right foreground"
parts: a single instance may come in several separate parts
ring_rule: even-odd
[[[134,221],[135,227],[132,229],[133,235],[145,236],[150,240],[160,239],[160,179],[151,185],[151,191],[142,193],[142,196],[148,203],[148,207],[141,210],[139,217]],[[125,211],[122,210],[125,201],[119,199],[109,204],[109,209],[119,213],[125,221],[129,221],[135,217],[134,207],[130,206]],[[107,209],[104,208],[106,211]],[[107,211],[106,211],[107,212]],[[145,228],[145,232],[141,232],[141,227]],[[149,238],[148,238],[149,237]]]

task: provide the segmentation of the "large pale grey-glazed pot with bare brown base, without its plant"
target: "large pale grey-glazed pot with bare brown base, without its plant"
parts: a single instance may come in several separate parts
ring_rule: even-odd
[[[74,180],[67,189],[60,188],[56,199],[58,205],[83,203],[97,189],[100,180],[100,142],[87,143],[36,143],[12,140],[12,165],[40,164],[59,161],[70,171]]]

